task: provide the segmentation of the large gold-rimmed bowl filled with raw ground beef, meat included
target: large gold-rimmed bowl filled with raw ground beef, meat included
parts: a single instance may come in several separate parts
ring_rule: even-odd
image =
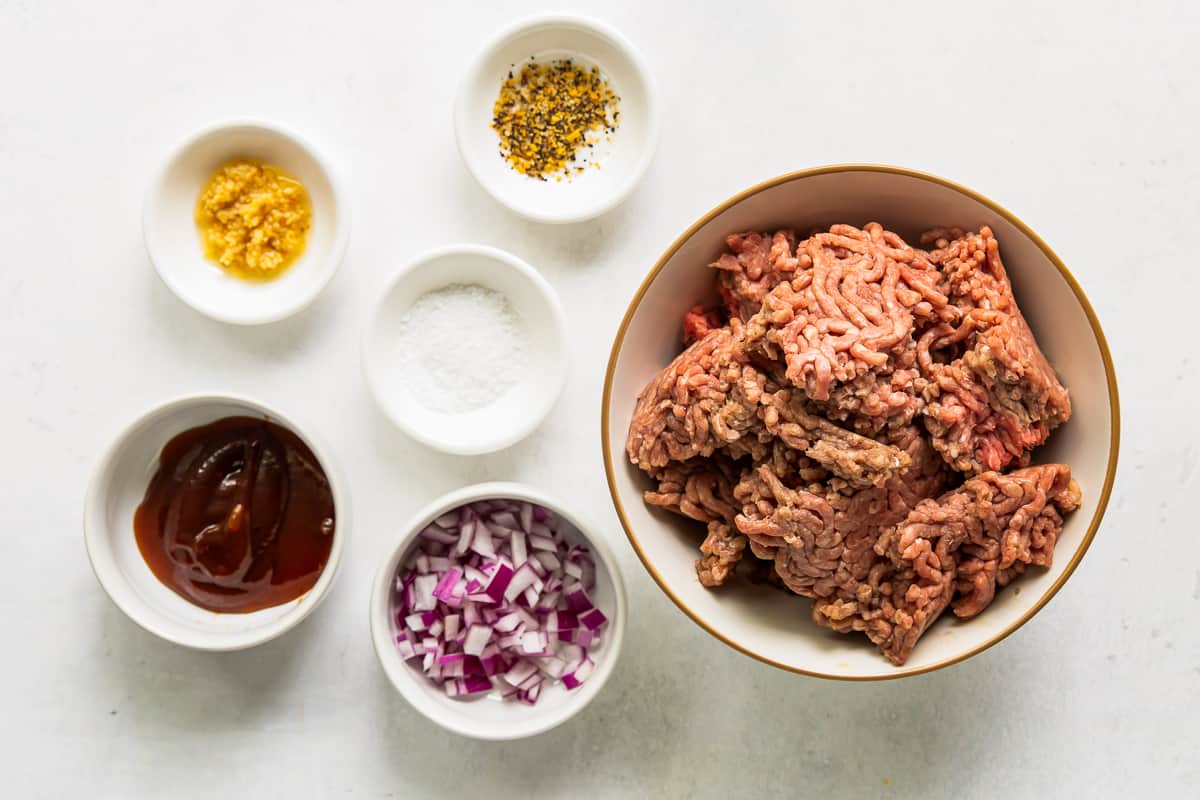
[[[834,678],[925,672],[1020,626],[1116,465],[1111,360],[1054,253],[881,167],[768,181],[694,225],[630,307],[602,413],[659,585],[727,644]]]

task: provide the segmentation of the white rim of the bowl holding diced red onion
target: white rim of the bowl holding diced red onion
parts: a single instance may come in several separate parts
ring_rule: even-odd
[[[516,734],[479,730],[469,726],[457,724],[455,721],[442,717],[437,711],[437,706],[426,702],[425,690],[414,688],[414,681],[409,680],[409,667],[396,652],[396,646],[392,642],[390,630],[392,576],[400,566],[400,561],[401,558],[403,558],[404,552],[407,552],[412,546],[421,529],[425,528],[425,524],[428,521],[445,513],[450,509],[456,509],[463,504],[473,503],[475,500],[486,500],[491,498],[511,498],[516,500],[526,500],[528,503],[536,503],[538,505],[550,509],[558,516],[564,517],[569,523],[571,523],[593,548],[593,552],[598,555],[598,560],[608,572],[608,578],[612,581],[613,594],[616,595],[617,603],[616,609],[613,609],[613,613],[610,615],[612,627],[606,636],[610,636],[611,638],[606,645],[607,651],[604,655],[604,661],[596,664],[595,672],[583,685],[583,688],[580,690],[581,692],[586,690],[587,693],[574,696],[582,698],[582,700],[565,704],[557,714],[544,714],[542,716],[545,720],[542,722],[533,724],[528,729],[522,729]],[[596,694],[600,693],[616,669],[617,661],[620,658],[622,642],[625,638],[625,619],[629,615],[629,600],[625,594],[625,581],[620,572],[620,565],[617,563],[617,558],[613,554],[612,548],[610,548],[604,537],[596,533],[598,530],[599,529],[592,523],[590,519],[581,517],[576,512],[569,510],[557,497],[550,495],[529,485],[514,481],[487,481],[484,483],[472,483],[451,492],[446,492],[445,494],[442,494],[424,505],[404,521],[404,524],[401,527],[400,535],[392,540],[386,551],[386,557],[380,561],[379,567],[376,571],[374,579],[371,582],[371,597],[367,614],[371,644],[374,649],[376,658],[379,661],[379,668],[383,669],[389,682],[410,706],[434,724],[462,736],[486,741],[511,741],[535,736],[540,733],[550,730],[551,728],[560,726],[582,711],[592,703],[592,700],[595,699]],[[529,706],[529,711],[530,714],[536,714],[538,706]]]

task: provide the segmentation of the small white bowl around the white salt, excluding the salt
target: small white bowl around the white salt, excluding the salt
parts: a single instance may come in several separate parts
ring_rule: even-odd
[[[401,357],[406,312],[421,295],[451,284],[478,284],[508,297],[529,347],[511,389],[461,414],[426,408]],[[362,369],[376,402],[408,435],[449,453],[492,452],[528,435],[558,399],[566,379],[566,321],[553,288],[532,266],[494,247],[455,245],[419,257],[384,289],[367,320]]]

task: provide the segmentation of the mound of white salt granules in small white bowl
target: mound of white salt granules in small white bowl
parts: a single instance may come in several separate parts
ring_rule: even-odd
[[[503,294],[455,283],[416,299],[400,320],[397,345],[421,405],[462,414],[516,385],[528,360],[527,336]]]

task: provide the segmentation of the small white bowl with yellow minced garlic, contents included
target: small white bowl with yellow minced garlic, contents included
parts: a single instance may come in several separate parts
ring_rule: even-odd
[[[184,142],[150,186],[150,261],[197,311],[235,325],[308,306],[337,272],[350,215],[329,163],[274,124],[217,125]]]

